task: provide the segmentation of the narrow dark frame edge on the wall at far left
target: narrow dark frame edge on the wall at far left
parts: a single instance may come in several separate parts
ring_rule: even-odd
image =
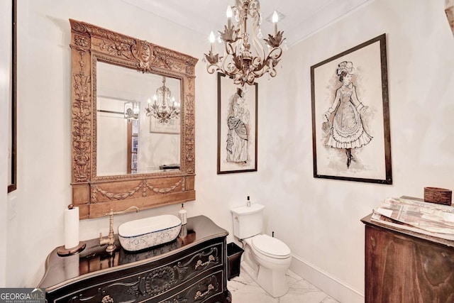
[[[11,143],[9,143],[11,157],[11,175],[8,180],[8,192],[17,189],[17,3],[11,1]],[[9,172],[10,173],[10,172]]]

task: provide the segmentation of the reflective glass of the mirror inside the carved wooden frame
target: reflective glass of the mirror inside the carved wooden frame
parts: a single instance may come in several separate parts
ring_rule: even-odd
[[[179,169],[180,91],[179,79],[97,62],[97,176]]]

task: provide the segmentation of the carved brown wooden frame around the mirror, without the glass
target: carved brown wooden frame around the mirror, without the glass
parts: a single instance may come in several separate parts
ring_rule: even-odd
[[[195,200],[194,69],[197,59],[145,40],[70,19],[72,204],[80,219],[130,206],[149,209]],[[96,62],[180,80],[179,170],[96,175]]]

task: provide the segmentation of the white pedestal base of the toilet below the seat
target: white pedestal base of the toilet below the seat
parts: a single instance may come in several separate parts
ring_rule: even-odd
[[[282,297],[289,291],[285,270],[270,270],[260,265],[255,270],[245,260],[241,262],[241,268],[272,297]]]

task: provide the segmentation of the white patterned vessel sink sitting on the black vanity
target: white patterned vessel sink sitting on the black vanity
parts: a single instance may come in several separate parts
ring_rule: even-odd
[[[175,240],[181,228],[182,221],[172,214],[150,216],[118,226],[118,239],[125,250],[143,250]]]

